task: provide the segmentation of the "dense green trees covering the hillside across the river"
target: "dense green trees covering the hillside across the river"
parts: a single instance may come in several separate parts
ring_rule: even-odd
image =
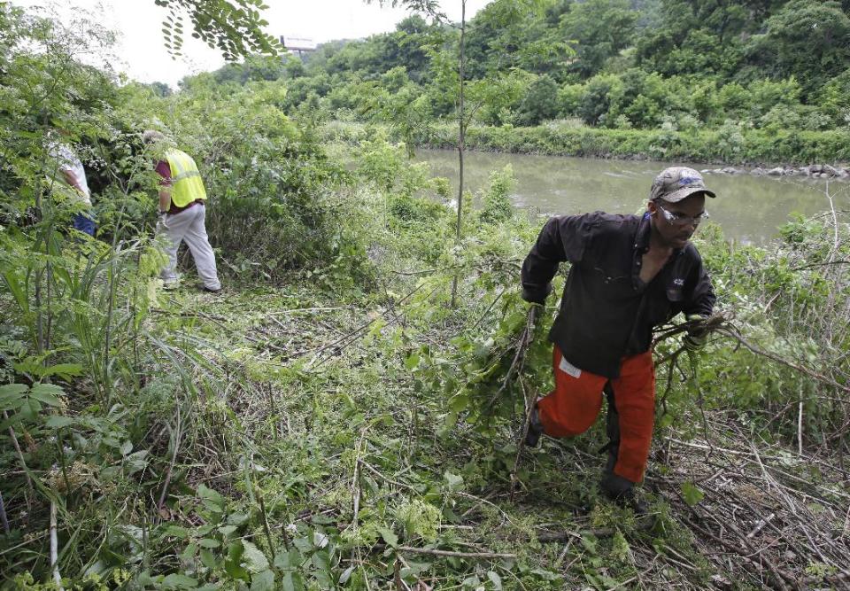
[[[843,128],[847,19],[836,2],[494,2],[465,31],[467,118],[683,130],[731,120],[769,136]],[[435,120],[455,118],[459,44],[459,31],[419,17],[392,34],[329,43],[288,82],[286,108],[318,97],[338,119],[389,124],[413,150]],[[659,147],[640,155],[666,158]]]

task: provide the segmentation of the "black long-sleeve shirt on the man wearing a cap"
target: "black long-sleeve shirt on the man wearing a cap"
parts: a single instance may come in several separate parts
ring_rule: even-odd
[[[579,369],[617,377],[622,357],[647,351],[653,327],[679,312],[711,315],[715,292],[697,249],[676,249],[649,284],[648,215],[553,217],[522,263],[522,297],[542,303],[562,261],[572,263],[549,339]]]

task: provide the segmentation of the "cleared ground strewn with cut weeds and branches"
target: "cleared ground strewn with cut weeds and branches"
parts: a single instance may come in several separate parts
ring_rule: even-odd
[[[250,388],[228,388],[220,403],[235,413],[234,425],[264,468],[258,482],[274,536],[288,523],[323,527],[340,544],[334,570],[363,566],[360,572],[379,588],[387,584],[381,580],[390,580],[395,556],[382,532],[393,527],[399,545],[517,555],[399,552],[399,564],[412,565],[406,573],[421,569],[408,582],[419,579],[433,588],[456,588],[470,577],[490,580],[488,588],[495,588],[488,572],[506,588],[702,588],[712,580],[720,587],[734,581],[736,587],[759,588],[782,576],[771,572],[769,561],[795,577],[809,576],[807,569],[821,564],[814,548],[838,525],[835,518],[848,498],[846,490],[818,486],[839,481],[836,469],[824,468],[816,477],[798,472],[800,461],[781,447],[760,445],[757,458],[734,416],[717,412],[707,417],[706,433],[717,447],[682,443],[675,430],[668,432],[667,445],[656,441],[646,488],[658,523],[650,531],[630,511],[599,498],[601,421],[574,442],[546,439],[542,450],[524,453],[512,502],[508,474],[518,423],[505,424],[493,438],[463,424],[443,432],[444,400],[417,388],[395,340],[403,325],[410,336],[445,343],[477,320],[481,305],[417,326],[406,320],[404,306],[387,305],[386,294],[340,306],[309,284],[200,302],[194,294],[176,297],[185,312],[182,327],[214,335],[216,346],[236,352],[255,379]],[[372,330],[382,318],[387,323]],[[369,320],[374,322],[364,327]],[[227,490],[228,478],[220,478],[197,474],[190,480]],[[239,505],[247,500],[235,479],[231,494]],[[699,507],[684,502],[684,481],[706,491]],[[421,503],[441,510],[404,517]],[[731,515],[728,503],[737,508]],[[800,511],[796,517],[794,510]],[[781,538],[771,525],[748,539],[747,548],[731,533],[753,531],[771,513],[782,516],[774,522]],[[805,530],[795,531],[796,520]],[[541,545],[534,539],[541,533],[560,533],[563,540]],[[265,548],[261,533],[255,535]],[[738,556],[752,555],[753,548],[765,548],[758,564]]]

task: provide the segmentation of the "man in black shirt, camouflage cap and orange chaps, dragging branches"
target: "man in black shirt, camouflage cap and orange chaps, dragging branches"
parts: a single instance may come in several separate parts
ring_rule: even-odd
[[[634,485],[644,476],[653,433],[653,327],[683,312],[711,315],[715,294],[696,247],[689,242],[707,217],[702,176],[670,167],[653,181],[642,216],[554,217],[522,264],[522,298],[542,305],[552,278],[569,261],[567,284],[549,338],[555,389],[537,401],[526,441],[545,432],[573,437],[596,420],[607,393],[608,463],[603,491],[643,509]],[[696,329],[685,345],[702,344]]]

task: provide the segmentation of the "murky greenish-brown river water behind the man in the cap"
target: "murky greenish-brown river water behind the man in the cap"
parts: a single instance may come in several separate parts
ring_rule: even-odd
[[[452,181],[457,195],[458,154],[450,150],[421,150],[416,159],[428,162],[431,173]],[[635,214],[645,209],[653,177],[668,166],[682,163],[647,160],[586,159],[490,152],[464,154],[464,185],[473,194],[488,185],[491,171],[514,167],[517,179],[511,195],[514,205],[542,214],[580,214],[603,210]],[[702,170],[717,165],[684,164]],[[748,174],[703,175],[717,198],[707,199],[710,220],[723,228],[727,239],[763,245],[777,236],[789,214],[813,215],[830,210],[829,190],[837,209],[850,209],[850,182],[801,176],[773,177]]]

